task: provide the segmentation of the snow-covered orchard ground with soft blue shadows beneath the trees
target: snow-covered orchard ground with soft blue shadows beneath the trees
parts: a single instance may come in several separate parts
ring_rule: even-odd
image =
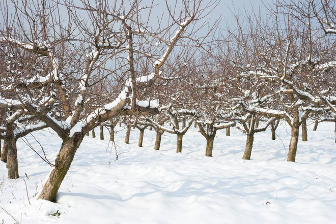
[[[290,130],[284,123],[275,141],[269,131],[256,134],[250,161],[241,159],[245,136],[234,128],[230,137],[224,130],[217,134],[213,157],[206,157],[205,139],[196,129],[184,136],[182,153],[176,153],[174,135],[164,134],[160,151],[154,151],[154,131],[145,131],[139,148],[138,131],[132,130],[126,145],[125,130],[118,127],[118,160],[107,131],[107,140],[86,137],[57,203],[36,200],[51,168],[19,140],[20,178],[9,180],[0,162],[0,223],[15,223],[14,218],[22,224],[335,223],[333,128],[325,122],[312,132],[310,125],[309,141],[299,142],[297,162],[290,163]],[[60,139],[46,131],[34,137],[53,162]],[[32,136],[27,141],[41,152]]]

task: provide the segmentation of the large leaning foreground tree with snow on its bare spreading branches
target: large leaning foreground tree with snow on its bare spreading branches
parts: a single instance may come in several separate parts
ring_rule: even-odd
[[[166,2],[165,21],[152,25],[157,21],[152,16],[154,4],[142,6],[141,1],[116,1],[111,5],[104,0],[76,1],[76,5],[72,1],[14,2],[14,16],[3,17],[1,43],[25,50],[44,62],[45,75],[33,74],[35,77],[26,83],[47,85],[52,91],[46,92],[42,101],[21,98],[29,95],[30,88],[16,98],[2,95],[2,100],[8,107],[34,114],[62,139],[40,199],[55,200],[87,132],[121,113],[157,113],[158,100],[143,89],[158,79],[176,45],[193,46],[192,41],[199,40],[194,38],[198,30],[195,21],[210,12],[213,4]],[[8,12],[7,6],[2,5],[3,12]],[[149,73],[140,70],[140,61],[151,65]],[[125,81],[115,100],[98,104],[103,101],[91,101],[91,89],[101,80],[116,85]],[[54,108],[59,109],[57,114],[51,113]]]

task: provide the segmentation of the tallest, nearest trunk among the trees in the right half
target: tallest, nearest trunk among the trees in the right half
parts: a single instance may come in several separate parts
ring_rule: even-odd
[[[300,130],[300,122],[299,122],[299,111],[298,108],[295,108],[292,131],[291,131],[291,141],[289,143],[289,150],[287,161],[295,162],[296,150],[297,150],[297,142],[299,139],[299,130]]]

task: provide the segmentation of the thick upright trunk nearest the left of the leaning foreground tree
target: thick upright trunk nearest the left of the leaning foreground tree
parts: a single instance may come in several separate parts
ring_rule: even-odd
[[[8,145],[7,145],[7,164],[8,178],[16,179],[19,177],[18,163],[17,163],[17,149],[16,139],[12,127],[7,127]]]

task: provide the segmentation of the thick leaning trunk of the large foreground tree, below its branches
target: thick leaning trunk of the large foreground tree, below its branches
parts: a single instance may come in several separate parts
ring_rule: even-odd
[[[83,136],[81,133],[75,133],[72,138],[67,138],[63,141],[60,153],[55,159],[55,167],[51,171],[48,180],[44,184],[39,199],[54,202],[56,199],[57,191],[67,174],[72,160],[75,156]]]

